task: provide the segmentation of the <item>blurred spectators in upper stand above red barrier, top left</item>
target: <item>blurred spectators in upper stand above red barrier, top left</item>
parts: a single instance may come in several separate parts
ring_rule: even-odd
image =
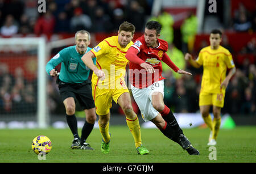
[[[150,15],[152,0],[46,0],[46,12],[38,12],[34,0],[0,1],[2,36],[52,35],[73,33],[79,29],[89,32],[117,31],[124,20],[133,22],[142,31]]]

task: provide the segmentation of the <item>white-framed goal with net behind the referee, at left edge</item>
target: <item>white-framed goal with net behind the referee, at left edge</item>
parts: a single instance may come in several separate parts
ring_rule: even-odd
[[[47,128],[46,40],[0,38],[0,127]]]

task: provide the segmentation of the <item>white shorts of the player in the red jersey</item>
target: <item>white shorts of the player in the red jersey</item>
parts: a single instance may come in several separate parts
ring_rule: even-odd
[[[144,121],[150,121],[159,114],[152,105],[152,94],[154,92],[160,92],[164,96],[164,80],[155,82],[151,86],[142,89],[131,85],[131,92]]]

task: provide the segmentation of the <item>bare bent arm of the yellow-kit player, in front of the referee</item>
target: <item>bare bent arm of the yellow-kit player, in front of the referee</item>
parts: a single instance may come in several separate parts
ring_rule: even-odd
[[[84,54],[84,56],[82,56],[82,61],[84,62],[84,64],[89,67],[90,70],[93,71],[94,74],[97,75],[97,77],[101,80],[105,79],[105,73],[102,70],[99,70],[93,63],[92,58],[94,57],[94,54],[92,52],[87,52],[86,54]]]

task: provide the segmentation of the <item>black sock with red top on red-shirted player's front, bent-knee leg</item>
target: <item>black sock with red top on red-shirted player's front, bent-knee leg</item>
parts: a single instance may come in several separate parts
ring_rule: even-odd
[[[167,122],[167,124],[171,126],[174,132],[176,132],[179,135],[183,134],[183,131],[180,129],[180,126],[177,123],[174,114],[166,105],[164,105],[164,109],[160,114],[162,115],[163,119]]]

